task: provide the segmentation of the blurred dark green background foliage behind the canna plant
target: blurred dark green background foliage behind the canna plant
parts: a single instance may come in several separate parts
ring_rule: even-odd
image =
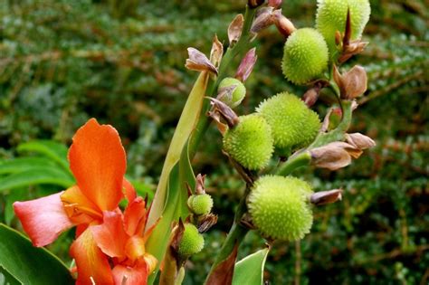
[[[71,136],[87,119],[110,123],[128,151],[128,175],[153,195],[168,142],[196,78],[186,48],[208,53],[215,33],[245,1],[0,1],[0,221],[20,228],[11,204],[73,183],[66,161]],[[429,280],[429,11],[425,0],[371,1],[365,52],[348,65],[367,68],[369,84],[351,132],[377,147],[338,172],[299,175],[317,190],[343,187],[341,203],[315,210],[312,233],[276,243],[271,284],[422,284]],[[315,0],[285,0],[283,14],[313,26]],[[302,95],[281,75],[284,39],[274,27],[258,37],[258,62],[246,82],[248,113],[282,90]],[[234,70],[231,70],[234,75]],[[315,109],[326,111],[323,96]],[[37,139],[34,141],[34,139]],[[213,142],[213,143],[208,143]],[[243,193],[212,128],[195,157],[207,174],[219,223],[205,251],[188,262],[185,284],[201,284]],[[73,233],[49,249],[70,261]],[[240,257],[263,246],[255,233]]]

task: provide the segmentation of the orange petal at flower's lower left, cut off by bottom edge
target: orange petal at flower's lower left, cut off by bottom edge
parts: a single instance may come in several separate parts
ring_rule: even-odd
[[[78,268],[77,285],[113,284],[108,256],[100,251],[90,229],[71,243],[70,255]]]

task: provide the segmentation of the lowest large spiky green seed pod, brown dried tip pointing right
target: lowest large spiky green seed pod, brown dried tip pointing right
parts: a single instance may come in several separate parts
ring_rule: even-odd
[[[262,176],[253,185],[247,205],[253,224],[265,238],[297,241],[310,233],[313,215],[310,185],[295,177]]]

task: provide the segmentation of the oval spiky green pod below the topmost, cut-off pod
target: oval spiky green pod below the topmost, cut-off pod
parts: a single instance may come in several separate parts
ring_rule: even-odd
[[[303,28],[291,34],[284,45],[283,74],[295,84],[318,79],[328,68],[328,46],[315,29]]]

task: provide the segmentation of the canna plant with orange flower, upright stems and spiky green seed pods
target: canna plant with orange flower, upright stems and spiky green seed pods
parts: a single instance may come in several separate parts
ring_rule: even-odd
[[[195,176],[192,167],[214,122],[223,138],[224,156],[243,178],[246,190],[205,283],[262,284],[273,242],[300,241],[310,233],[312,208],[341,199],[341,189],[315,193],[308,182],[292,176],[294,171],[305,166],[337,170],[375,146],[363,134],[348,133],[352,112],[358,108],[355,99],[367,90],[362,67],[340,69],[367,45],[360,35],[369,2],[357,3],[319,0],[316,27],[297,29],[281,14],[281,0],[249,0],[245,14],[238,14],[228,27],[225,52],[217,36],[208,57],[188,48],[186,68],[199,75],[178,120],[150,207],[125,179],[126,155],[118,132],[90,119],[76,132],[68,152],[76,185],[14,203],[33,245],[43,247],[76,226],[70,254],[77,284],[181,284],[186,261],[204,250],[204,233],[217,221],[213,199],[205,193],[205,176]],[[239,115],[234,109],[244,100],[245,81],[257,60],[255,38],[271,25],[285,37],[279,70],[287,81],[308,90],[301,98],[279,90],[253,113]],[[241,62],[231,74],[237,58]],[[322,121],[310,109],[320,94],[332,102]],[[125,203],[119,204],[122,200]],[[4,228],[0,234],[5,235]],[[267,247],[236,262],[249,231],[260,233]],[[2,259],[0,265],[14,276],[14,267]],[[249,271],[255,274],[246,276]]]

